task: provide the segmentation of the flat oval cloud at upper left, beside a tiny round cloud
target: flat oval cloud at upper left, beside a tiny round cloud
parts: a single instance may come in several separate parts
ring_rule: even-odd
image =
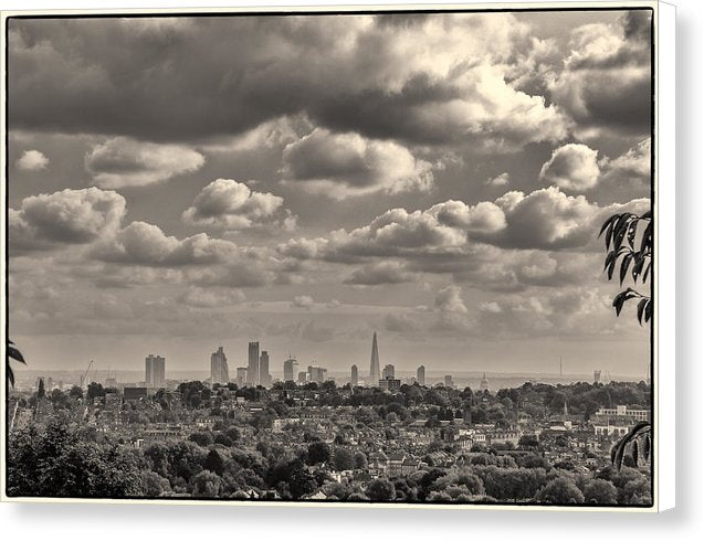
[[[101,188],[144,187],[197,171],[203,156],[183,145],[157,145],[115,137],[85,156],[85,169]]]

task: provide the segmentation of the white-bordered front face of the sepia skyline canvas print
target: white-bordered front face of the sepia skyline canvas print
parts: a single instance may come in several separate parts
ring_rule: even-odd
[[[3,497],[651,507],[653,28],[10,17]]]

